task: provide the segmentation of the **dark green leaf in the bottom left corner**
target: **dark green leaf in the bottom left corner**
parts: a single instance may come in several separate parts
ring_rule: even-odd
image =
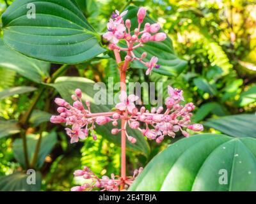
[[[40,191],[42,175],[36,171],[35,184],[28,184],[29,174],[15,172],[11,175],[0,177],[0,191]]]

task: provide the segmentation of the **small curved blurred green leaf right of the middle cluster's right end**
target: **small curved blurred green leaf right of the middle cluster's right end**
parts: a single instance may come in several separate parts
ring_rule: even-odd
[[[200,108],[198,108],[195,115],[193,115],[193,122],[199,122],[201,120],[204,120],[209,113],[214,113],[218,116],[225,115],[225,110],[223,109],[223,106],[221,106],[219,103],[216,102],[209,102],[205,103]]]

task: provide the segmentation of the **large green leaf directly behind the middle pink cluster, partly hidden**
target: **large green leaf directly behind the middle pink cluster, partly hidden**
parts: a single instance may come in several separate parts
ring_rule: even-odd
[[[65,100],[72,102],[70,96],[74,94],[74,91],[79,88],[83,91],[83,101],[86,99],[92,101],[91,109],[93,113],[97,112],[109,112],[113,106],[111,105],[95,105],[93,103],[93,97],[97,91],[93,90],[93,85],[95,83],[92,80],[88,80],[86,78],[81,77],[59,77],[56,79],[55,84],[51,84],[52,87],[56,88],[58,92],[60,92],[62,98]],[[102,96],[107,96],[105,92]],[[111,129],[113,126],[111,124],[106,124],[104,126],[97,126],[95,131],[100,135],[104,136],[110,142],[114,142],[117,145],[120,145],[120,136],[111,135]],[[129,130],[129,134],[134,136],[137,139],[137,142],[132,144],[127,140],[127,148],[130,150],[134,150],[136,152],[141,152],[148,156],[149,147],[148,143],[145,141],[143,136],[138,133],[138,131]]]

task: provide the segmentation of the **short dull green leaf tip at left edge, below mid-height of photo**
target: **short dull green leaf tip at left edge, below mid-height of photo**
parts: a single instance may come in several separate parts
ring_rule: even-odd
[[[0,138],[8,135],[14,135],[20,132],[17,122],[13,120],[0,120]]]

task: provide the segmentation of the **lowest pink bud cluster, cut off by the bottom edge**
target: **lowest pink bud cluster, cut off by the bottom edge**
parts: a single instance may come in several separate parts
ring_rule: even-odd
[[[76,170],[74,176],[83,177],[87,182],[82,186],[72,187],[71,191],[92,191],[92,189],[100,189],[100,191],[119,191],[121,184],[125,184],[125,189],[127,189],[142,170],[142,167],[139,168],[139,170],[134,170],[132,177],[126,177],[125,180],[113,173],[110,178],[108,176],[103,176],[100,179],[90,170],[90,168],[84,166],[83,170]]]

